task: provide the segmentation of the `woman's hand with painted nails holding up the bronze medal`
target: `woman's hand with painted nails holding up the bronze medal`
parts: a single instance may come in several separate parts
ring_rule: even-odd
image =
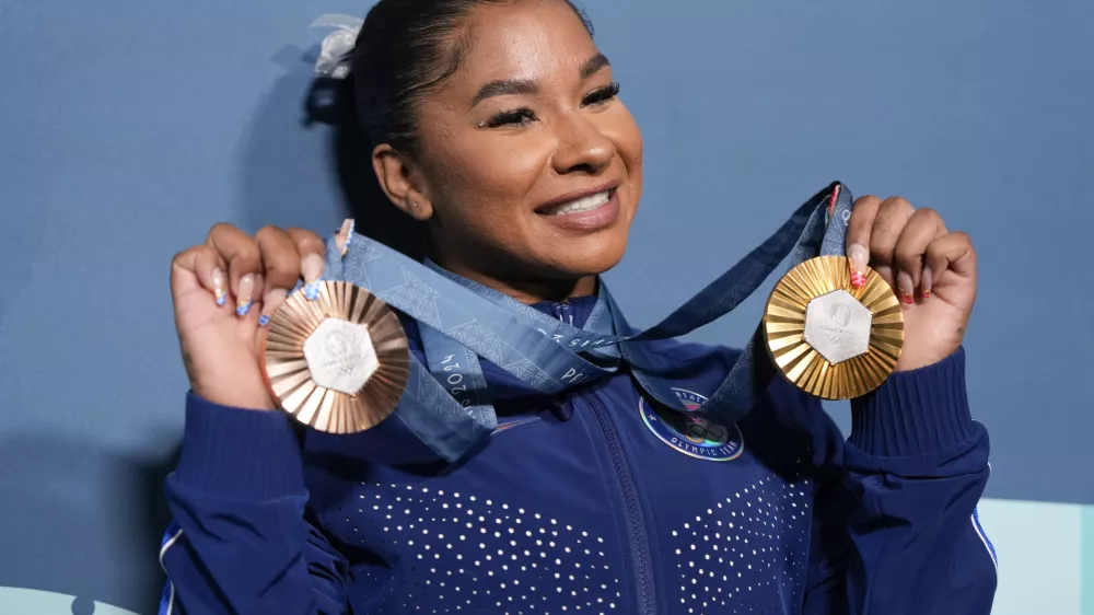
[[[344,225],[339,243],[348,235]],[[175,328],[195,394],[223,406],[277,407],[258,358],[263,326],[301,278],[319,278],[325,252],[311,231],[266,227],[252,237],[221,223],[175,255]]]

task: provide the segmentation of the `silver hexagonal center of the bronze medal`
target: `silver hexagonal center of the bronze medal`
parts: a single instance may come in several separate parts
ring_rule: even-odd
[[[327,318],[304,340],[304,360],[319,386],[356,395],[380,368],[369,327]]]

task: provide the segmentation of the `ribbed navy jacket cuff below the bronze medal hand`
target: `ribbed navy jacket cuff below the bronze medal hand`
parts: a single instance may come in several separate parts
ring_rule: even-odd
[[[236,499],[305,494],[300,443],[276,410],[220,406],[186,395],[186,431],[175,480]]]

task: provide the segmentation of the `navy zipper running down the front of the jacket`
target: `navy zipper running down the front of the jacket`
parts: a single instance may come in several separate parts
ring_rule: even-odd
[[[612,459],[612,469],[619,484],[619,491],[627,508],[627,536],[630,538],[630,555],[635,562],[635,587],[638,589],[638,613],[653,615],[655,612],[653,570],[650,564],[650,541],[645,535],[645,519],[642,506],[638,501],[638,487],[630,464],[624,454],[619,434],[612,423],[607,408],[593,393],[581,393],[580,397],[589,404],[596,423],[604,437],[604,448]]]

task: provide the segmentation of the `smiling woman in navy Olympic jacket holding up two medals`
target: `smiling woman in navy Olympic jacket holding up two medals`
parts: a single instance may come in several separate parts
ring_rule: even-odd
[[[395,276],[412,364],[463,392],[468,374],[479,401],[457,418],[489,415],[489,428],[453,459],[400,413],[414,402],[440,415],[455,390],[408,388],[395,415],[352,436],[270,411],[258,350],[270,315],[301,278],[293,304],[319,297],[325,268],[363,267],[380,247],[351,224],[329,245],[300,229],[213,227],[172,268],[191,393],[167,483],[164,613],[990,611],[994,553],[975,515],[988,441],[961,347],[976,295],[967,236],[900,198],[852,210],[839,185],[803,206],[815,220],[830,211],[826,240],[846,234],[847,258],[828,257],[848,295],[884,280],[903,299],[885,291],[905,324],[896,371],[851,401],[843,440],[816,398],[770,378],[767,357],[618,343],[631,329],[600,276],[627,246],[642,140],[572,4],[381,0],[351,63],[372,174],[430,237],[429,263]],[[439,330],[455,300],[427,274],[517,325]],[[468,346],[438,352],[439,338]],[[587,374],[556,378],[539,361],[608,338],[622,348],[584,351]],[[738,364],[755,391],[733,414],[722,394]]]

